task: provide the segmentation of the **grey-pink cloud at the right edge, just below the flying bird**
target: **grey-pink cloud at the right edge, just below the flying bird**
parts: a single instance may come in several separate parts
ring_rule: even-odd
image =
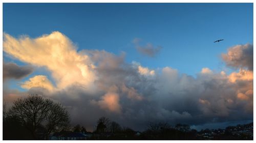
[[[222,59],[229,67],[253,70],[253,45],[236,45],[222,53]]]

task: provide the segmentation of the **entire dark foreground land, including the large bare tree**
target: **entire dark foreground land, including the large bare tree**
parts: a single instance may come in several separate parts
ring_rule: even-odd
[[[225,129],[197,131],[189,125],[148,123],[142,132],[101,117],[89,132],[79,124],[70,125],[69,113],[59,103],[38,95],[18,99],[10,109],[4,104],[4,140],[252,140],[253,123]]]

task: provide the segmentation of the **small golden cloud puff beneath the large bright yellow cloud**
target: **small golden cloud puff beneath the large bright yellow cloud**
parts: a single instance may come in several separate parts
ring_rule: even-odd
[[[54,90],[53,84],[44,75],[36,75],[32,78],[29,78],[29,81],[25,81],[24,83],[22,83],[21,87],[24,89],[44,88],[49,91]]]

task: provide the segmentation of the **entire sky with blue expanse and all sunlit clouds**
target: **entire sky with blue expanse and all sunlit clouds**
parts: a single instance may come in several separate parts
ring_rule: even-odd
[[[4,101],[40,93],[91,130],[252,120],[251,3],[5,3],[3,32]]]

